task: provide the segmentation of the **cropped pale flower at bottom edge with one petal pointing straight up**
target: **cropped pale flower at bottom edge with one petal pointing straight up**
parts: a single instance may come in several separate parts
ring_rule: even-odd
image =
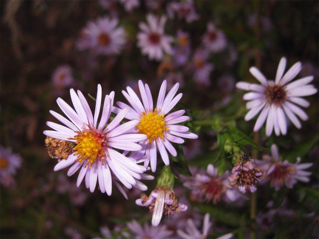
[[[209,214],[206,213],[204,216],[204,222],[203,222],[203,230],[200,232],[194,222],[191,219],[187,220],[187,227],[186,232],[183,232],[181,230],[177,230],[177,235],[182,239],[206,239],[209,233],[209,230],[211,228],[212,223],[209,222]],[[232,234],[228,233],[224,236],[221,236],[217,239],[230,239],[232,238]]]

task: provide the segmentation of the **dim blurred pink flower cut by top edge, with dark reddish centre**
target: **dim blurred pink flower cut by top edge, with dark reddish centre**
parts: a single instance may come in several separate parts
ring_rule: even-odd
[[[167,5],[167,15],[173,18],[175,14],[179,20],[185,19],[188,23],[199,19],[192,0],[170,2]]]

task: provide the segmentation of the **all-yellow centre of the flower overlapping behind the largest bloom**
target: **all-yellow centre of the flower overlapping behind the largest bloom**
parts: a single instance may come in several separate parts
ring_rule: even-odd
[[[158,109],[155,109],[154,112],[143,112],[140,123],[136,127],[139,128],[139,133],[148,136],[150,144],[158,137],[164,139],[163,134],[168,128],[165,126],[163,118],[164,115],[159,114]]]

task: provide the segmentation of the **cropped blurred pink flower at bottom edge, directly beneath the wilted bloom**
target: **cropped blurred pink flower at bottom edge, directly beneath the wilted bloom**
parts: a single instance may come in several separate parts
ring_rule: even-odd
[[[167,230],[165,225],[150,227],[148,224],[144,224],[144,227],[142,227],[138,222],[133,220],[127,226],[135,234],[135,239],[168,239],[173,234],[173,232]]]

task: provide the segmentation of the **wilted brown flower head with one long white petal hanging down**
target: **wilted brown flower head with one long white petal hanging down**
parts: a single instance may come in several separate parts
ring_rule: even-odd
[[[150,208],[151,213],[153,213],[152,225],[154,227],[159,226],[163,214],[166,217],[171,217],[176,212],[180,213],[187,210],[185,204],[177,202],[174,191],[164,186],[153,190],[149,197],[142,194],[141,198],[135,202],[139,206]]]

